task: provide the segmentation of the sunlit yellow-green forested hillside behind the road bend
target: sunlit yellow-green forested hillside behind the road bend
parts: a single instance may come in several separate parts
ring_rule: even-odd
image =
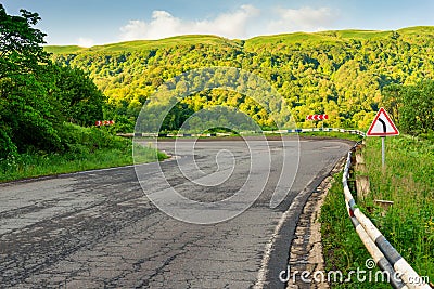
[[[434,78],[434,27],[397,31],[322,31],[228,40],[182,36],[130,41],[89,49],[46,47],[53,58],[90,73],[108,96],[118,130],[132,131],[136,116],[166,80],[193,68],[239,67],[268,80],[281,93],[298,126],[306,115],[328,114],[330,127],[367,128],[390,84],[417,84]],[[197,110],[207,103],[263,114],[243,95],[202,92],[184,100]],[[242,105],[244,104],[244,105]],[[261,118],[259,124],[261,123]]]

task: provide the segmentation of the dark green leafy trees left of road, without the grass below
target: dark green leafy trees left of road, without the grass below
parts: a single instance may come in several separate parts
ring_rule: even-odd
[[[33,28],[39,19],[25,10],[10,16],[0,4],[0,160],[29,149],[64,152],[65,121],[102,118],[104,95],[82,70],[49,60],[46,35]]]

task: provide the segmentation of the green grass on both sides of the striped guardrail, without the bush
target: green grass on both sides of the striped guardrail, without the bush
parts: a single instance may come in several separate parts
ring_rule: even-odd
[[[387,137],[384,171],[381,167],[379,137],[367,139],[362,154],[371,193],[363,201],[357,200],[358,206],[421,276],[434,280],[433,139],[421,140],[405,135]],[[365,261],[370,255],[347,215],[342,173],[335,180],[321,208],[326,270],[363,270]],[[356,197],[355,192],[353,195]],[[391,200],[394,205],[384,211],[374,200]],[[332,287],[391,288],[387,284],[357,280],[333,284]]]

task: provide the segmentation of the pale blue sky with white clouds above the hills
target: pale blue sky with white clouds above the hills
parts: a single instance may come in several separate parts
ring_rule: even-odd
[[[2,0],[41,16],[52,45],[91,47],[178,35],[248,39],[336,29],[396,30],[434,26],[432,0]]]

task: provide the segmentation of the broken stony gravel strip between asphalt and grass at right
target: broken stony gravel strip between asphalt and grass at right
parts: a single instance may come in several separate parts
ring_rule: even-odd
[[[326,197],[334,182],[334,174],[342,171],[345,165],[345,157],[340,159],[334,166],[330,174],[321,182],[321,184],[312,192],[307,200],[299,220],[296,225],[294,239],[290,248],[289,266],[292,273],[308,271],[324,272],[326,264],[322,252],[321,223],[319,216],[321,207],[324,203]],[[295,280],[295,281],[294,281]],[[326,289],[330,285],[326,283],[306,284],[301,280],[301,276],[296,275],[294,279],[291,276],[286,284],[286,289],[316,288]]]

